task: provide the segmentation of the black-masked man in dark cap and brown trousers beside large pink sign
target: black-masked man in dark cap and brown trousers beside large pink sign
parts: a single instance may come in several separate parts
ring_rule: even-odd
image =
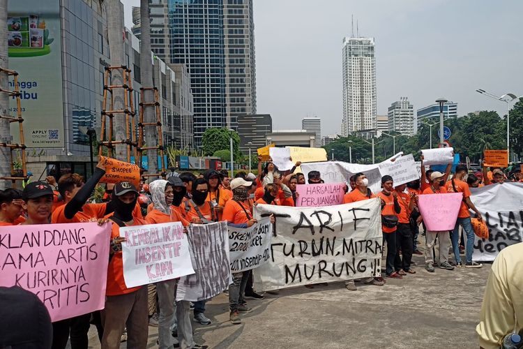
[[[120,338],[127,325],[128,348],[146,348],[149,334],[147,311],[147,288],[137,286],[128,288],[123,279],[123,259],[120,227],[146,225],[142,218],[132,216],[138,200],[136,187],[123,181],[114,186],[112,207],[114,212],[108,216],[112,220],[111,248],[109,249],[109,267],[107,268],[107,290],[105,309],[102,311],[104,327],[102,349],[120,348]]]

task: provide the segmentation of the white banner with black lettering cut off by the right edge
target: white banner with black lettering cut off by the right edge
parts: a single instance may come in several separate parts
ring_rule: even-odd
[[[506,246],[523,241],[523,184],[492,184],[472,188],[471,193],[489,229],[488,239],[476,236],[472,259],[492,261]]]

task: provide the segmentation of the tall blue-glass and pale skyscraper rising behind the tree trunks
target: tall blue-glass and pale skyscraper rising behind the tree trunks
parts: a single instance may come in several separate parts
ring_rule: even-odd
[[[252,0],[155,0],[150,8],[151,50],[189,70],[195,146],[207,128],[237,129],[238,115],[255,114]]]

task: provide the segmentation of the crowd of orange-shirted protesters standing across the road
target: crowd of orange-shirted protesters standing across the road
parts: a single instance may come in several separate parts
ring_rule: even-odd
[[[236,228],[248,228],[257,223],[253,214],[255,205],[294,206],[299,197],[297,186],[324,182],[321,173],[317,171],[295,174],[300,165],[298,162],[295,168],[281,172],[271,161],[264,164],[259,158],[258,175],[238,172],[231,179],[226,171],[211,170],[198,177],[184,172],[167,180],[157,179],[149,185],[142,181],[139,188],[123,181],[116,185],[106,184],[102,202],[89,202],[91,193],[96,186],[101,185],[98,182],[105,174],[105,165],[100,161],[88,181],[84,181],[79,174],[66,174],[60,177],[58,183],[53,177],[47,177],[46,181],[26,184],[23,191],[12,188],[1,191],[0,225],[112,224],[105,309],[53,322],[50,327],[52,348],[66,348],[68,341],[73,349],[87,348],[87,332],[91,324],[96,326],[100,345],[104,349],[120,348],[121,341],[127,341],[128,348],[146,348],[149,326],[158,327],[159,348],[205,348],[196,343],[192,336],[192,320],[201,325],[211,324],[205,315],[205,301],[194,304],[175,301],[176,279],[133,288],[126,286],[121,252],[121,243],[125,238],[120,237],[119,228],[169,222],[181,222],[187,227],[192,223],[216,221],[227,221],[228,225]],[[372,193],[364,173],[351,176],[344,188],[344,203],[379,198],[381,230],[387,248],[385,278],[379,276],[347,280],[347,290],[356,290],[356,282],[383,286],[386,278],[403,279],[409,274],[416,274],[412,255],[423,255],[418,249],[419,235],[425,236],[427,272],[434,273],[436,268],[451,271],[456,267],[482,267],[472,260],[474,232],[470,211],[479,220],[483,217],[470,200],[469,188],[509,180],[523,181],[523,177],[519,168],[508,176],[499,168],[491,172],[485,168],[483,173],[473,174],[469,174],[464,165],[457,165],[453,174],[450,173],[451,168],[449,164],[446,172],[441,173],[425,170],[422,163],[419,180],[397,186],[391,176],[384,176],[381,178],[379,193]],[[455,228],[450,232],[427,230],[418,208],[418,198],[420,195],[442,193],[463,194]],[[273,216],[271,221],[275,221]],[[420,229],[420,226],[423,228]],[[463,232],[461,235],[460,228]],[[438,253],[435,251],[436,246]],[[450,248],[453,260],[449,258]],[[507,273],[515,272],[507,263],[517,263],[514,258],[509,258],[510,251],[517,249],[517,258],[521,264],[520,256],[523,254],[521,248],[518,248],[507,248],[500,254],[492,268],[487,289],[506,292],[513,297],[512,302],[521,304],[520,288],[514,288],[512,283],[506,281],[512,277],[507,276]],[[508,262],[501,262],[501,257]],[[520,276],[514,277],[521,279]],[[242,313],[251,310],[246,299],[264,299],[264,295],[253,290],[252,270],[232,274],[228,295],[229,320],[234,325],[241,323]],[[506,328],[514,325],[514,317],[512,320],[510,316],[503,318],[503,314],[510,313],[505,310],[513,305],[505,300],[506,297],[501,298],[503,302],[499,304],[495,301],[497,298],[492,297],[483,305],[484,319],[478,325],[478,333],[485,348],[489,341],[499,341],[499,336],[506,334]],[[503,311],[498,311],[498,306]],[[485,320],[489,313],[497,314],[495,325]],[[515,320],[523,322],[521,316],[522,311],[517,309]]]

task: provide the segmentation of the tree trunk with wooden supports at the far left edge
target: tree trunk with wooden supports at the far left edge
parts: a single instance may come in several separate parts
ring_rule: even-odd
[[[7,1],[0,0],[0,67],[8,68],[7,52]],[[0,73],[0,88],[9,89],[8,75]],[[9,114],[9,96],[0,93],[0,115]],[[10,142],[10,126],[7,119],[0,119],[0,142]],[[0,147],[0,176],[8,177],[10,175],[10,156],[9,149]],[[1,181],[0,188],[6,188],[7,181]]]

